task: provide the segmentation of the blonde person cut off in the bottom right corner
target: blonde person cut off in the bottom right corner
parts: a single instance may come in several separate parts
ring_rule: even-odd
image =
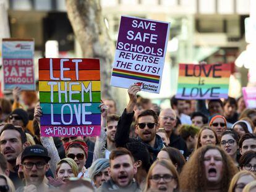
[[[241,172],[236,173],[236,175],[234,175],[232,178],[228,192],[242,192],[245,185],[255,180],[256,176],[254,173],[247,170],[242,170]]]

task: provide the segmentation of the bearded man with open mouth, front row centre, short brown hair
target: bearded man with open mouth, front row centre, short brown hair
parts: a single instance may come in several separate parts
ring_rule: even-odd
[[[114,149],[110,156],[110,179],[104,182],[97,191],[141,191],[139,185],[134,182],[137,166],[134,157],[125,148]]]

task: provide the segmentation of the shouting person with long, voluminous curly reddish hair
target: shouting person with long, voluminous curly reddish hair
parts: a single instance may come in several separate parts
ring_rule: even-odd
[[[182,169],[181,191],[228,191],[236,172],[233,160],[220,147],[202,146],[192,154]]]

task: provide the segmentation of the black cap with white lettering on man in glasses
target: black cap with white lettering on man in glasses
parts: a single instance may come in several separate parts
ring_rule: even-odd
[[[27,157],[43,157],[43,159],[45,159],[46,162],[48,162],[51,159],[51,157],[49,157],[48,155],[47,149],[39,144],[28,146],[27,148],[24,149],[21,156],[22,162]]]

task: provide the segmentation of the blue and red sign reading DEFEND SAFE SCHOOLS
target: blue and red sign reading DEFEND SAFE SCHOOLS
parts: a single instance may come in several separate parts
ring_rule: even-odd
[[[32,39],[2,39],[4,90],[35,90],[34,46]]]

